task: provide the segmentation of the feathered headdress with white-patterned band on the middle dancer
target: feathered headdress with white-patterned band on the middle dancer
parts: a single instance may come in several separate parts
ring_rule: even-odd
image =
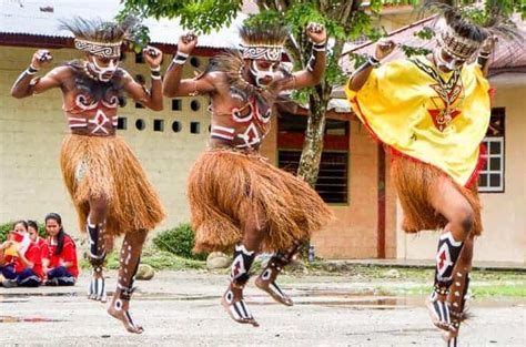
[[[243,59],[280,61],[289,30],[284,27],[244,25],[240,35]]]

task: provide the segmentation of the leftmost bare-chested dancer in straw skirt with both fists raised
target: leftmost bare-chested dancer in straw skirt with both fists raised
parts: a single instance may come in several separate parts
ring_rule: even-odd
[[[80,227],[90,242],[93,274],[89,297],[105,302],[105,236],[124,234],[118,287],[108,312],[128,331],[142,333],[129,313],[133,279],[146,233],[163,220],[164,212],[138,159],[115,135],[117,110],[124,92],[144,106],[162,110],[162,53],[152,47],[143,51],[152,75],[150,91],[119,68],[121,44],[134,23],[131,18],[120,24],[82,18],[63,21],[63,29],[74,35],[74,47],[85,53],[84,60],[70,61],[40,78],[36,76],[38,71],[52,57],[39,50],[11,94],[26,98],[52,88],[62,90],[71,134],[62,144],[61,166]]]

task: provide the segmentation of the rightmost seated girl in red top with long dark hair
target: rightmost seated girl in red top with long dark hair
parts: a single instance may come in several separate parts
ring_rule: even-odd
[[[79,276],[77,249],[73,239],[65,234],[62,218],[57,213],[45,216],[48,232],[47,254],[43,256],[48,286],[72,286]]]

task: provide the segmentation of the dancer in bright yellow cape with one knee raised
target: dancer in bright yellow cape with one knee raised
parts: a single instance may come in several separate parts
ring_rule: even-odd
[[[452,7],[442,9],[432,54],[380,65],[396,47],[380,41],[375,55],[351,76],[346,94],[360,120],[393,154],[405,232],[441,229],[427,306],[444,338],[456,346],[474,237],[482,232],[476,182],[490,116],[485,74],[495,39],[490,28]]]

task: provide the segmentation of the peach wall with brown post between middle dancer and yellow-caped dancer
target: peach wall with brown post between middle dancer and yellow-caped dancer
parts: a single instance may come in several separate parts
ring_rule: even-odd
[[[348,149],[350,198],[346,205],[331,205],[335,220],[312,238],[316,255],[325,258],[377,257],[377,153],[378,145],[371,140],[358,121],[351,122]],[[386,160],[388,164],[388,159]],[[386,169],[388,172],[388,167]],[[387,175],[388,178],[388,175]],[[391,192],[391,180],[387,180]],[[395,198],[386,196],[386,256],[396,254]]]

